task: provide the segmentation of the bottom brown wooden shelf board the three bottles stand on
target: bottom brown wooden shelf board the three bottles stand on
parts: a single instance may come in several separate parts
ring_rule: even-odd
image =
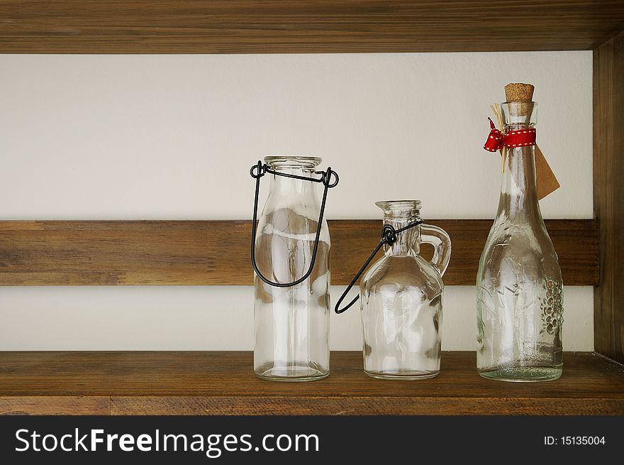
[[[333,352],[331,374],[273,383],[250,352],[2,352],[0,413],[63,415],[624,414],[624,366],[566,353],[548,383],[477,375],[474,352],[445,352],[427,381],[379,381],[360,352]]]

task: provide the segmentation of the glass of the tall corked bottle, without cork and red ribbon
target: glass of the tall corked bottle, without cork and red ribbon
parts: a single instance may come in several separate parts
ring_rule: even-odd
[[[535,126],[535,102],[505,102],[506,131]],[[498,213],[477,274],[477,369],[501,381],[562,373],[561,269],[535,189],[535,146],[506,148]]]

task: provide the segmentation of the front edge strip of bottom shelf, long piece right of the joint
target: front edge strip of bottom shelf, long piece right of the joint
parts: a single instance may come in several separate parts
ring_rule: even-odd
[[[111,415],[615,415],[622,400],[384,397],[114,397]]]

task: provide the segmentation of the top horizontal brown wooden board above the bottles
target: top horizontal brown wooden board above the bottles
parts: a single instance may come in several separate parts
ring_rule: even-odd
[[[624,3],[1,0],[0,18],[0,53],[592,50],[624,28]]]

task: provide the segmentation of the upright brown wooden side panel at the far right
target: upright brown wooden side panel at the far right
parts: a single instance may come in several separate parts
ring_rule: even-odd
[[[594,50],[594,209],[600,219],[596,351],[624,362],[624,32]]]

